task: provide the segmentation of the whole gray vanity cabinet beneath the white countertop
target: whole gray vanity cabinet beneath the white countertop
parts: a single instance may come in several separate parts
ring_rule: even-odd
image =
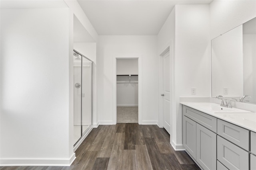
[[[256,133],[188,106],[183,145],[203,170],[256,170]]]

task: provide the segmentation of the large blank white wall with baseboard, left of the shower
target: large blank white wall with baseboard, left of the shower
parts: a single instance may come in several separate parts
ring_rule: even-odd
[[[1,165],[74,160],[69,21],[67,8],[1,9]]]

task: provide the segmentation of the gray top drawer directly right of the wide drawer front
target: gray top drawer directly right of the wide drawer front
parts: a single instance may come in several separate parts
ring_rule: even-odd
[[[239,147],[249,151],[249,131],[218,119],[217,133],[228,141],[238,145]]]

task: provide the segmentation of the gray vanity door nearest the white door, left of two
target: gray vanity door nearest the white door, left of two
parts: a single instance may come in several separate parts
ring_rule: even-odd
[[[196,159],[196,122],[183,116],[183,146]]]

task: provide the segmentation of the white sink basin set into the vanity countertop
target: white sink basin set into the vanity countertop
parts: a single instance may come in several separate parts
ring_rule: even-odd
[[[194,103],[193,104],[196,107],[200,107],[202,109],[209,110],[214,113],[246,113],[250,112],[247,110],[242,110],[242,109],[237,109],[237,108],[228,108],[228,107],[222,107],[219,104],[214,104],[214,103]]]

